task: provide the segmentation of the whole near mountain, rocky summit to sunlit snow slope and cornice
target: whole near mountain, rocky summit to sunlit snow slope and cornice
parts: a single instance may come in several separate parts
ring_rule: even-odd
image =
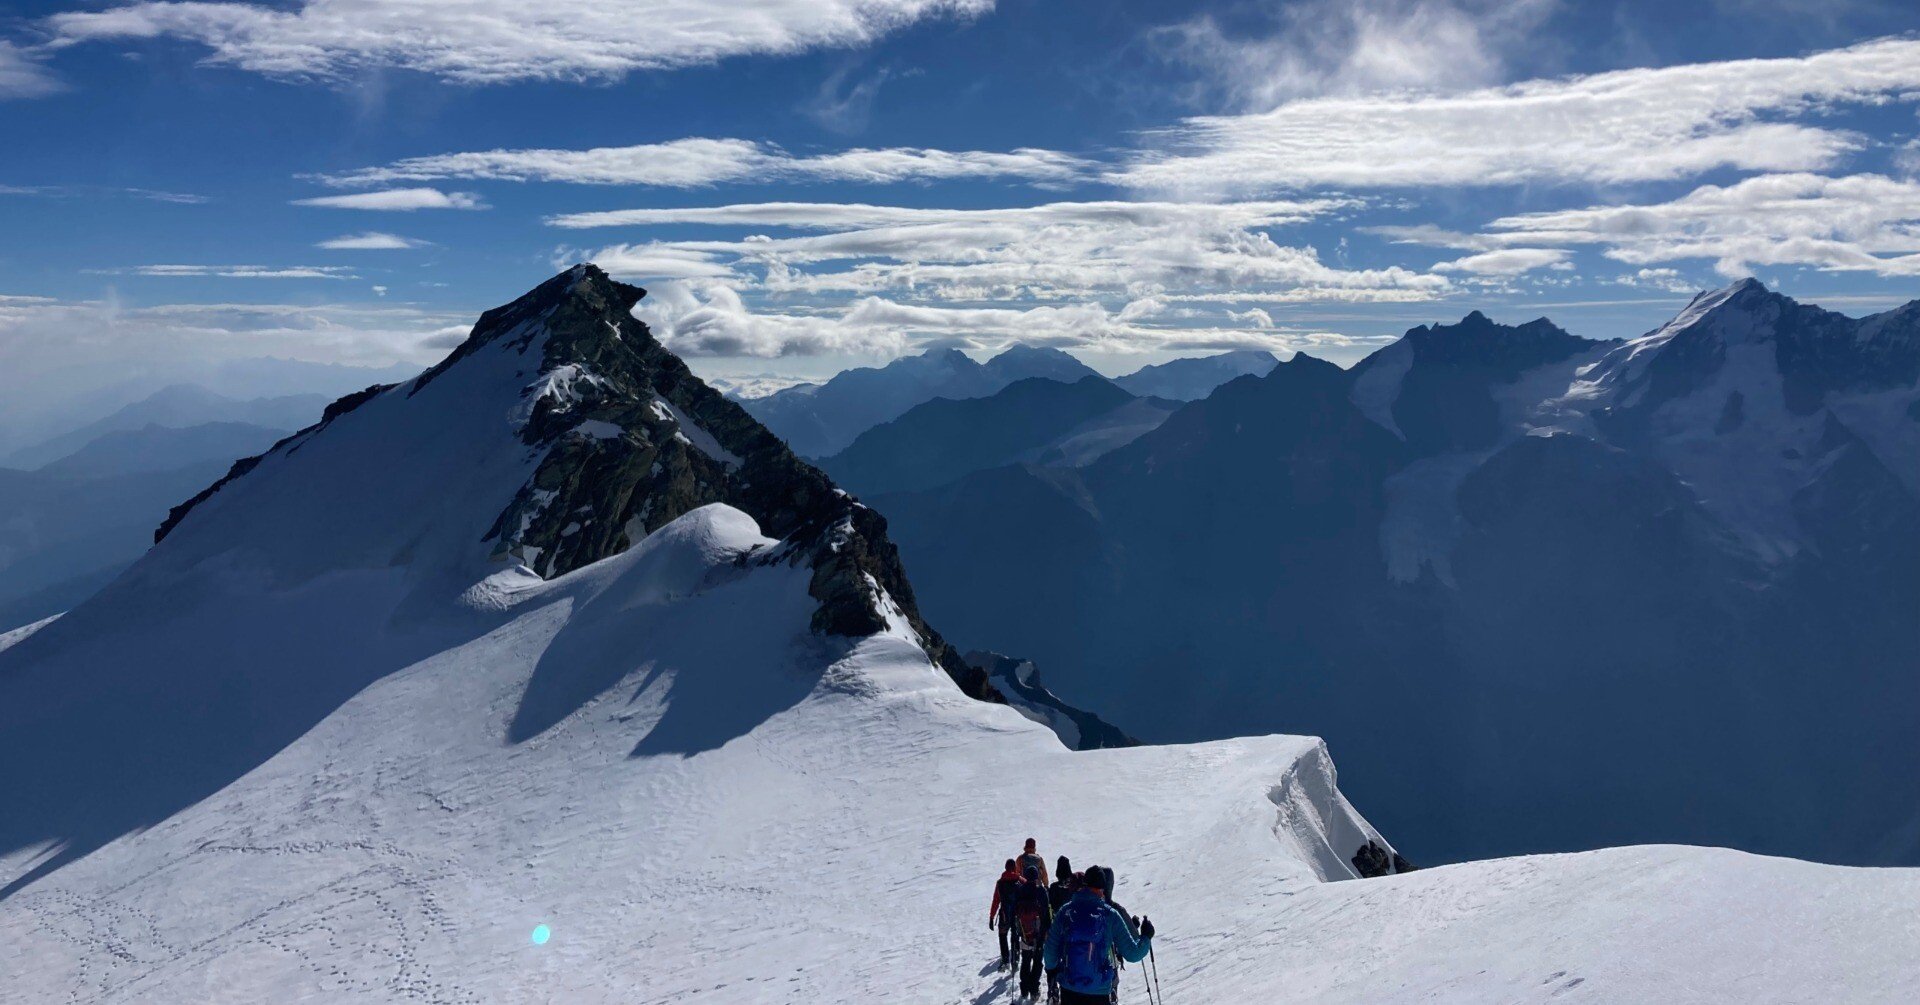
[[[1135,842],[1292,884],[1384,844],[1315,740],[1079,757],[983,701],[877,517],[693,380],[639,296],[582,267],[490,311],[0,636],[10,992],[973,993],[1021,828],[1140,895],[1210,863]],[[1010,807],[1023,776],[1066,792]]]

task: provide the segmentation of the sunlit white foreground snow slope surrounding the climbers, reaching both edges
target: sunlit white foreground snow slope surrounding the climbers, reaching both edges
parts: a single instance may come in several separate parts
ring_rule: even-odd
[[[440,611],[463,642],[0,901],[10,992],[998,1001],[987,894],[1039,836],[1119,870],[1188,1001],[1920,993],[1908,870],[1649,847],[1329,884],[1379,834],[1319,742],[1068,751],[904,623],[814,636],[806,571],[753,557],[776,548],[716,503],[555,580],[495,573]]]

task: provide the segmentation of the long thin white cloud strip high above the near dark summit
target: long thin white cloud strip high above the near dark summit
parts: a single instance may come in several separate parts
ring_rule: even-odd
[[[1092,163],[1056,150],[927,150],[897,146],[795,158],[753,140],[703,138],[599,146],[591,150],[480,150],[407,158],[384,167],[323,175],[328,184],[390,184],[434,179],[563,181],[576,184],[649,184],[699,188],[720,183],[1018,179],[1066,184],[1092,173]]]

